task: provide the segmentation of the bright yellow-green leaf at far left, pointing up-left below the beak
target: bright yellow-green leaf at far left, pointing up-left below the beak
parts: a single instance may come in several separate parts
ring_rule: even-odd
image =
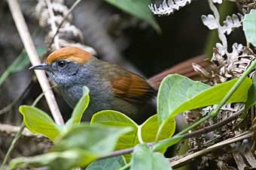
[[[41,109],[23,105],[19,110],[23,115],[24,124],[32,133],[40,133],[52,141],[59,136],[60,127]]]

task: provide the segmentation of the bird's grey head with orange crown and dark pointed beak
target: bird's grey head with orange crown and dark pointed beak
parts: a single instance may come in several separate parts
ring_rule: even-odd
[[[30,67],[32,70],[46,70],[58,85],[72,85],[84,74],[84,64],[93,56],[76,47],[65,47],[52,52],[44,62]]]

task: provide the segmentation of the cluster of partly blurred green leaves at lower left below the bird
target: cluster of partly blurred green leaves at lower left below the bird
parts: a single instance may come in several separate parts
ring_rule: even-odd
[[[55,145],[47,154],[12,160],[10,168],[48,166],[50,169],[69,170],[87,166],[96,158],[113,151],[119,136],[129,132],[130,127],[80,124],[88,103],[89,90],[84,87],[84,96],[75,107],[72,118],[63,127],[58,127],[47,113],[40,109],[20,106],[26,127],[33,133],[47,136]]]

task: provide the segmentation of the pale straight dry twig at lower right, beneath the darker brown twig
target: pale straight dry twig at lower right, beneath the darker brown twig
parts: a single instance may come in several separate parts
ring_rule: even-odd
[[[246,134],[244,134],[242,136],[235,136],[232,139],[227,139],[227,140],[225,140],[223,142],[219,142],[219,143],[217,143],[215,145],[209,146],[208,148],[206,148],[206,149],[204,149],[202,151],[198,151],[198,152],[196,152],[194,154],[190,154],[190,155],[187,155],[186,157],[182,157],[179,160],[175,160],[175,161],[170,160],[171,166],[172,166],[172,168],[177,168],[178,166],[181,166],[181,164],[187,163],[187,161],[192,160],[195,157],[200,157],[201,155],[206,154],[206,153],[208,153],[210,151],[214,151],[214,150],[216,150],[218,148],[221,148],[224,145],[228,145],[228,144],[231,144],[233,142],[240,141],[242,139],[248,139],[248,138],[251,138],[252,136],[253,136],[253,133],[248,133],[247,132]]]

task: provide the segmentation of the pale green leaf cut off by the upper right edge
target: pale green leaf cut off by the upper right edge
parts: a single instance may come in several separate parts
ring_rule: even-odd
[[[242,23],[246,40],[256,46],[256,10],[251,10],[250,13],[245,14]]]

